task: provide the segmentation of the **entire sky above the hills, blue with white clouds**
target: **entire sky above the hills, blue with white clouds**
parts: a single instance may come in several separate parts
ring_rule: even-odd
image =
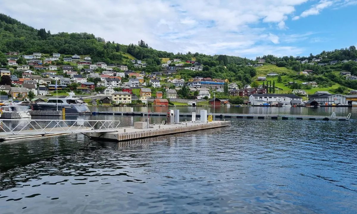
[[[357,46],[356,9],[357,0],[0,2],[1,13],[52,33],[88,32],[121,44],[142,39],[174,53],[248,58]]]

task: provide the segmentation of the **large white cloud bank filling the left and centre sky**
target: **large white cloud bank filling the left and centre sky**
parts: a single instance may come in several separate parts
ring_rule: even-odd
[[[260,47],[276,55],[301,52],[295,46],[280,46],[285,40],[276,31],[288,29],[287,17],[295,13],[297,5],[307,1],[1,1],[0,12],[52,33],[88,32],[121,44],[136,44],[142,39],[155,49],[174,53],[235,53],[250,57],[267,54]],[[301,17],[318,14],[330,6],[328,2],[331,1],[320,1]]]

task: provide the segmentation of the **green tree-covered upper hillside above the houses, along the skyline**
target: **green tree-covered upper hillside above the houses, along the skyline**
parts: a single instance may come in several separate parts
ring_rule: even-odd
[[[149,44],[150,45],[150,44]],[[307,57],[284,56],[276,57],[266,55],[257,57],[255,60],[237,56],[227,55],[205,55],[199,53],[171,53],[152,49],[144,41],[137,44],[123,45],[115,41],[105,41],[104,38],[95,37],[89,33],[66,33],[51,34],[45,29],[35,29],[23,24],[16,19],[0,14],[0,64],[6,66],[7,60],[4,53],[19,51],[20,55],[32,55],[34,52],[51,55],[60,53],[63,56],[74,54],[90,56],[93,62],[106,62],[107,64],[127,65],[130,70],[145,71],[147,73],[159,72],[162,70],[162,63],[169,59],[180,59],[183,63],[186,60],[193,60],[202,64],[203,68],[199,71],[179,70],[177,75],[185,80],[195,76],[228,79],[243,86],[255,81],[257,69],[255,66],[260,64],[259,59],[266,64],[286,67],[289,73],[286,81],[317,81],[319,85],[330,87],[338,83],[342,86],[357,89],[357,81],[346,79],[339,75],[340,71],[350,71],[357,76],[357,51],[355,46],[349,48],[322,51],[321,54]],[[145,61],[146,67],[135,67],[131,59]],[[306,60],[306,62],[302,62]],[[337,60],[338,63],[330,64],[330,61]],[[355,60],[355,61],[354,61]],[[63,61],[52,62],[61,65]],[[21,63],[20,63],[21,64]],[[172,64],[174,65],[174,64]],[[184,63],[182,66],[192,66],[191,63]],[[297,72],[312,70],[313,76],[308,79],[297,75]],[[258,70],[259,71],[259,70]],[[294,72],[296,72],[294,74]],[[260,74],[260,73],[258,73]],[[279,73],[279,75],[287,75]],[[357,77],[356,77],[357,78]],[[302,87],[302,86],[301,86]],[[341,89],[343,91],[345,89]],[[346,91],[346,90],[345,90]]]

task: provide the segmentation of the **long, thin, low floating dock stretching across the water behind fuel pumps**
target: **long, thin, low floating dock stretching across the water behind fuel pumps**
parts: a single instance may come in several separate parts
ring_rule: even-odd
[[[92,112],[92,114],[109,114],[109,115],[131,115],[131,116],[147,116],[147,112]],[[162,116],[166,117],[166,112],[149,112],[149,116]],[[297,114],[236,114],[236,113],[212,113],[212,116],[216,118],[247,118],[247,119],[295,119],[295,120],[317,120],[322,119],[325,121],[338,120],[338,121],[348,121],[350,120],[351,113],[345,116],[336,116],[332,113],[331,116],[321,116],[321,115],[297,115]],[[180,112],[180,116],[191,117],[192,113]],[[200,117],[200,113],[196,113],[196,117]]]

